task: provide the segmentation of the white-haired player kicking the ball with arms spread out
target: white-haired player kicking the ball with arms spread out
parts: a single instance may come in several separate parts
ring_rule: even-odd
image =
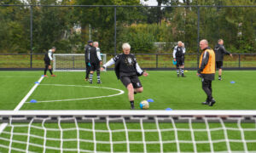
[[[128,98],[131,103],[131,110],[134,109],[134,94],[143,92],[143,85],[138,79],[139,76],[147,77],[148,73],[143,71],[137,64],[134,54],[130,54],[129,43],[122,45],[123,54],[118,54],[102,66],[102,71],[110,65],[114,66],[114,71],[118,79],[128,90]]]

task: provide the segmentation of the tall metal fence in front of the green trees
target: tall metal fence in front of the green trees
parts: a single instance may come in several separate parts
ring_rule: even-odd
[[[189,53],[186,66],[193,68],[203,38],[211,47],[223,38],[225,47],[237,53],[233,59],[225,57],[224,67],[256,67],[255,5],[1,4],[0,8],[1,68],[41,68],[50,47],[55,46],[58,54],[81,54],[89,39],[100,42],[104,54],[118,54],[122,43],[129,42],[131,52],[145,58],[142,65],[148,68],[172,68],[170,53],[177,41],[183,41]]]

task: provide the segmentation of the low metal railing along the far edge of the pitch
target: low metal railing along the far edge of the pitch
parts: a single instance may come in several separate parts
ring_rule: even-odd
[[[31,60],[32,56],[32,60]],[[107,54],[111,59],[114,54]],[[136,54],[139,65],[146,69],[169,70],[172,65],[172,54]],[[185,55],[186,69],[198,67],[198,54]],[[41,70],[44,68],[44,54],[0,54],[0,70]],[[224,56],[226,69],[256,69],[256,54],[233,54]]]

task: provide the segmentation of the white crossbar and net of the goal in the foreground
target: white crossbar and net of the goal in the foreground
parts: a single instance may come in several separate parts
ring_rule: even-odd
[[[230,143],[241,143],[243,145],[243,152],[255,152],[247,148],[247,143],[256,143],[256,139],[245,139],[245,132],[256,132],[256,128],[242,128],[241,123],[253,122],[256,125],[256,111],[0,111],[0,122],[9,123],[9,131],[3,131],[3,134],[8,134],[9,138],[0,137],[0,140],[8,142],[8,144],[0,144],[0,148],[4,148],[11,152],[17,150],[21,152],[29,152],[30,146],[39,147],[45,152],[45,150],[55,150],[57,152],[62,151],[76,151],[76,152],[114,152],[114,144],[125,144],[126,151],[131,152],[131,144],[143,144],[143,152],[148,152],[147,144],[159,144],[158,152],[165,152],[165,144],[176,144],[177,152],[183,152],[180,144],[193,144],[193,152],[197,152],[197,144],[207,144],[210,147],[208,152],[238,152],[233,151]],[[46,128],[45,122],[55,122],[58,124],[56,128]],[[61,122],[73,122],[75,127],[62,128]],[[88,122],[92,127],[79,127],[79,123]],[[105,122],[108,129],[96,129],[96,122]],[[109,126],[110,122],[123,123],[124,129],[112,129]],[[137,122],[140,127],[137,129],[127,128],[125,122]],[[143,122],[154,122],[155,128],[144,128]],[[172,127],[160,128],[159,122],[171,122]],[[188,122],[188,128],[176,127],[176,122]],[[193,128],[192,123],[205,122],[206,129]],[[208,122],[217,122],[221,124],[221,127],[211,128]],[[224,122],[235,122],[236,128],[226,127]],[[18,124],[13,124],[18,123]],[[32,123],[41,123],[41,126],[34,126]],[[19,133],[15,132],[14,128],[27,127],[27,132]],[[44,136],[31,133],[32,128],[44,130]],[[223,139],[212,139],[212,131],[221,130],[224,131]],[[238,131],[241,133],[241,139],[229,139],[228,131]],[[60,138],[48,138],[47,133],[49,131],[60,132]],[[73,131],[76,133],[76,138],[63,138],[64,131]],[[93,133],[92,139],[81,138],[79,136],[80,131],[87,131]],[[175,139],[162,139],[162,132],[173,131]],[[113,133],[125,133],[124,140],[114,140]],[[129,139],[129,133],[141,133],[142,140]],[[153,132],[158,134],[158,140],[146,139],[146,134]],[[191,140],[178,139],[178,133],[189,132]],[[196,140],[195,132],[207,133],[206,140]],[[2,132],[0,132],[1,134]],[[108,133],[109,140],[96,139],[96,133]],[[15,136],[27,135],[26,140],[15,139]],[[31,138],[44,139],[44,144],[38,144],[31,141]],[[46,141],[55,140],[60,141],[60,147],[47,145]],[[64,142],[77,142],[72,148],[67,148],[63,145]],[[93,148],[87,149],[81,147],[81,142],[93,144]],[[20,147],[13,147],[13,143],[26,144],[26,150]],[[216,151],[214,150],[214,144],[224,143],[226,150]],[[97,150],[98,144],[109,144],[110,151]],[[192,148],[191,148],[192,149]],[[149,149],[150,150],[150,149]],[[201,151],[200,151],[201,152]]]

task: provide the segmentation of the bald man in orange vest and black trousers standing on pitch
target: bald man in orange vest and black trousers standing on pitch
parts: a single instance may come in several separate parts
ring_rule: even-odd
[[[201,77],[202,89],[207,94],[207,100],[202,105],[212,106],[215,100],[212,97],[212,80],[215,77],[215,54],[214,51],[208,47],[206,39],[201,40],[200,48],[202,50],[200,65],[197,71],[197,76]]]

